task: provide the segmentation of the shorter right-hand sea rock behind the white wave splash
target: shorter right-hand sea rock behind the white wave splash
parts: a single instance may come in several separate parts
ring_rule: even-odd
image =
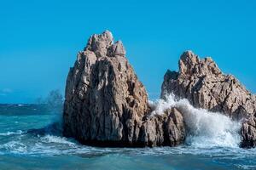
[[[161,98],[166,94],[189,99],[198,108],[243,119],[242,147],[256,145],[256,99],[231,75],[224,75],[211,58],[199,59],[191,51],[182,54],[179,71],[167,71]]]

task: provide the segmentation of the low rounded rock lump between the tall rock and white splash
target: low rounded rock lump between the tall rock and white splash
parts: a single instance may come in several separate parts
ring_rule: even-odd
[[[141,127],[141,141],[148,146],[177,146],[185,139],[183,116],[176,108],[163,115],[148,116]]]

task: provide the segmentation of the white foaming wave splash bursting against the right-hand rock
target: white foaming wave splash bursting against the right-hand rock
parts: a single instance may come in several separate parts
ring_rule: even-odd
[[[239,130],[241,122],[230,120],[230,117],[204,109],[196,109],[187,99],[175,99],[173,94],[166,100],[150,102],[152,114],[162,114],[166,109],[176,107],[182,112],[187,126],[186,143],[195,147],[238,147],[241,142]]]

